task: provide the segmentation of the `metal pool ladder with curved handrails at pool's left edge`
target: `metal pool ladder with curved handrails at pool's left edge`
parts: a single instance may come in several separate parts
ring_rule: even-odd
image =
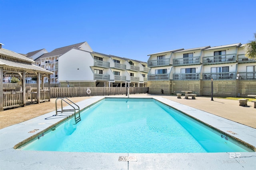
[[[58,110],[57,109],[57,100],[61,100],[60,103],[61,103],[61,110]],[[71,102],[72,104],[74,104],[75,106],[77,106],[74,102],[72,102],[71,100],[69,100],[68,98],[57,98],[55,100],[55,109],[56,109],[56,115],[58,113],[63,113],[63,112],[71,112],[71,111],[74,111],[74,117],[75,117],[75,121],[76,123],[78,123],[79,121],[81,121],[81,117],[80,117],[80,108],[79,106],[77,106],[77,108],[75,108],[72,104],[68,103],[68,100],[69,102]],[[73,109],[63,109],[63,105],[62,105],[62,101],[66,102],[66,104],[68,104],[69,106],[73,107]],[[77,115],[78,113],[78,115]]]

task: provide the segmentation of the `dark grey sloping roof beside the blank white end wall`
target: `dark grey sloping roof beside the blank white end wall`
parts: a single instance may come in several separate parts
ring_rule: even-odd
[[[78,44],[74,44],[74,45],[68,45],[66,47],[60,47],[58,49],[54,49],[50,53],[45,53],[44,55],[38,57],[35,61],[40,61],[40,59],[43,59],[43,58],[46,58],[46,57],[53,57],[53,56],[63,55],[63,54],[67,53],[68,51],[70,51],[73,48],[80,47],[83,43],[86,43],[86,42],[82,42],[82,43],[78,43]]]

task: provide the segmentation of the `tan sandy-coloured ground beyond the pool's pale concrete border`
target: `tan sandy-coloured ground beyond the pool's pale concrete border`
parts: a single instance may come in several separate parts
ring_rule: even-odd
[[[122,96],[122,95],[120,95]],[[119,96],[119,97],[120,97]],[[248,125],[250,127],[256,128],[256,108],[252,102],[248,102],[247,107],[239,106],[237,100],[227,100],[221,98],[214,98],[214,101],[211,101],[209,97],[196,97],[196,100],[184,99],[182,96],[181,99],[178,99],[177,96],[160,96],[160,95],[148,95],[148,94],[135,94],[130,95],[130,97],[144,97],[144,96],[158,96],[168,98],[175,102],[191,106],[238,123]],[[123,96],[125,97],[125,96]],[[90,97],[76,97],[69,98],[72,102],[80,102],[86,100]],[[34,117],[49,113],[55,110],[55,98],[52,98],[50,102],[43,102],[40,104],[29,104],[25,107],[18,107],[15,109],[9,109],[0,112],[0,129],[14,125]],[[60,107],[60,100],[57,102],[58,108]],[[63,106],[66,106],[63,103]]]

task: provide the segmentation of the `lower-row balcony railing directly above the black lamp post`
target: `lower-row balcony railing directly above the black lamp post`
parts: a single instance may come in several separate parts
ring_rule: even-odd
[[[203,80],[236,80],[236,72],[203,73]]]

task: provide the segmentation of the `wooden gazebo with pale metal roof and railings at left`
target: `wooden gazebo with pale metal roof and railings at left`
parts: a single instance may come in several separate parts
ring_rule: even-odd
[[[31,96],[33,94],[36,103],[40,104],[40,102],[50,101],[50,82],[48,81],[48,85],[46,85],[48,87],[45,88],[44,77],[47,77],[49,80],[50,75],[53,73],[33,63],[33,60],[23,55],[3,49],[0,43],[0,111],[6,108],[26,106],[26,95],[28,95],[26,94],[26,77],[37,79],[36,90],[30,93]],[[4,77],[17,77],[20,79],[20,89],[4,92]]]

